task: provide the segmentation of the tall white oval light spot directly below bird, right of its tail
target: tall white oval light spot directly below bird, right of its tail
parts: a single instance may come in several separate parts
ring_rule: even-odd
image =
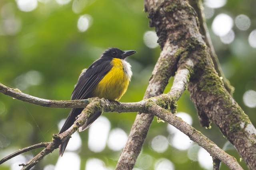
[[[110,131],[110,121],[104,116],[100,116],[89,127],[88,147],[93,152],[101,152],[106,147],[108,133]]]

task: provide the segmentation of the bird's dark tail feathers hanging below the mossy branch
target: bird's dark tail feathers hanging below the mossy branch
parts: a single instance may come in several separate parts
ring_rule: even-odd
[[[63,125],[63,127],[60,129],[60,133],[66,131],[68,128],[70,128],[73,124],[74,121],[76,121],[76,117],[83,111],[83,108],[76,108],[76,109],[72,109],[70,111],[70,113],[68,114],[68,117]],[[91,115],[90,117],[88,117],[88,119],[86,120],[86,122],[84,123],[84,125],[82,127],[79,128],[79,131],[84,131],[85,129],[87,129],[96,119],[98,119],[98,117],[101,115],[101,111],[96,111],[93,115]],[[59,151],[59,155],[62,156],[67,145],[68,145],[68,141],[69,139],[67,139],[66,141],[64,141],[61,145],[60,145],[60,151]]]

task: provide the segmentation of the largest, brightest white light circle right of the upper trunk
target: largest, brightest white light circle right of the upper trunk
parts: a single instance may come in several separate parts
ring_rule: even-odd
[[[233,27],[233,20],[227,14],[219,14],[212,22],[212,31],[218,36],[226,35]]]

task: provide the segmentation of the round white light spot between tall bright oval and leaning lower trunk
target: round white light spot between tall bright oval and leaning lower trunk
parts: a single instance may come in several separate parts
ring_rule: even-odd
[[[108,137],[108,147],[114,151],[121,150],[124,148],[127,139],[128,136],[123,129],[112,129]]]

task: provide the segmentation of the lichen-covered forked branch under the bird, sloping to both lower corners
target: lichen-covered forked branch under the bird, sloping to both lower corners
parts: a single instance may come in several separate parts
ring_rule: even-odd
[[[187,64],[190,67],[193,67],[191,61],[188,60]],[[46,148],[42,150],[39,154],[37,154],[34,158],[28,161],[26,164],[21,164],[23,166],[22,170],[28,170],[32,168],[35,164],[37,164],[44,156],[52,152],[54,149],[57,149],[58,146],[65,141],[66,139],[70,138],[71,135],[77,131],[77,129],[82,126],[86,119],[95,111],[101,110],[103,111],[140,111],[144,113],[152,114],[153,116],[156,115],[160,117],[164,121],[170,123],[186,135],[190,137],[192,141],[198,143],[198,145],[202,146],[206,149],[211,155],[214,155],[216,158],[224,162],[230,169],[233,170],[241,170],[242,168],[238,164],[238,162],[234,159],[234,157],[228,155],[223,150],[221,150],[216,144],[214,144],[210,139],[205,137],[199,131],[196,131],[192,126],[188,123],[182,121],[179,117],[173,115],[170,111],[163,109],[168,108],[174,110],[175,101],[174,98],[180,97],[182,92],[185,90],[186,84],[188,83],[188,77],[190,75],[189,69],[182,68],[178,69],[177,74],[174,79],[174,85],[168,94],[162,94],[160,96],[155,96],[152,98],[144,99],[140,102],[135,103],[119,103],[116,101],[109,102],[105,99],[99,98],[91,98],[89,104],[86,108],[82,111],[82,113],[78,116],[78,119],[74,122],[74,124],[65,132],[61,134],[53,135],[53,140],[47,144]],[[185,76],[185,77],[184,77]],[[180,86],[178,86],[180,84]],[[170,96],[170,94],[176,94],[174,96]],[[175,97],[176,96],[176,97]],[[178,100],[178,98],[176,100]],[[162,106],[158,106],[161,104]],[[45,145],[42,145],[45,147]]]

